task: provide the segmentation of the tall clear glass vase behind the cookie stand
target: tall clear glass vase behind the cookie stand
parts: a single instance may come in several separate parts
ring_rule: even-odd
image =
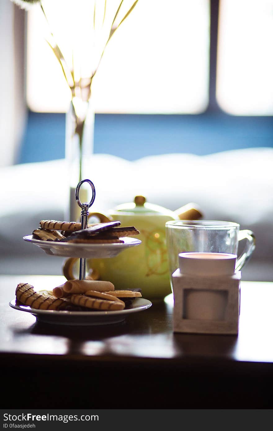
[[[66,113],[65,158],[68,172],[68,198],[66,207],[67,221],[80,221],[81,209],[75,200],[75,190],[79,181],[89,178],[91,154],[94,144],[94,110],[91,101],[81,104],[82,116],[77,116],[75,107],[70,103]],[[79,112],[79,109],[78,109]],[[81,202],[89,202],[91,188],[85,183],[80,188]]]

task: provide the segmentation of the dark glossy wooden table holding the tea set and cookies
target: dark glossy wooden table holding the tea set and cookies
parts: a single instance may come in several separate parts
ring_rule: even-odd
[[[36,322],[8,305],[21,281],[64,278],[0,277],[2,408],[272,408],[273,283],[242,282],[231,336],[173,334],[171,297],[115,325]]]

